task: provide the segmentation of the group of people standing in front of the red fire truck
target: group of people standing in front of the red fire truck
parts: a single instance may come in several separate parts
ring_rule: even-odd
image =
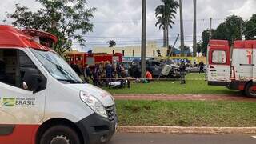
[[[89,82],[89,79],[92,78],[95,86],[108,86],[109,82],[118,78],[126,78],[127,74],[120,62],[101,62],[93,68],[86,66],[84,77],[86,82]]]

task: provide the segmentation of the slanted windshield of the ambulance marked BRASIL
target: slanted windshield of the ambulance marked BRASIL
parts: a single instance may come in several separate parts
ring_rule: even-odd
[[[78,74],[58,54],[51,51],[30,49],[48,72],[60,82],[82,83]]]

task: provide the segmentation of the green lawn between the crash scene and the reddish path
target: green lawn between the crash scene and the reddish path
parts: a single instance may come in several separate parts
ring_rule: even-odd
[[[205,78],[204,74],[187,74],[186,78]],[[240,94],[223,86],[208,86],[204,80],[187,80],[186,85],[179,81],[160,81],[148,84],[131,83],[131,88],[109,89],[112,94]]]

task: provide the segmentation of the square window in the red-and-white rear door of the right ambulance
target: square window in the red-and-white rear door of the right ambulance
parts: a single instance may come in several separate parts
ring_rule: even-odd
[[[226,51],[225,50],[214,50],[212,53],[212,62],[215,64],[226,63]]]

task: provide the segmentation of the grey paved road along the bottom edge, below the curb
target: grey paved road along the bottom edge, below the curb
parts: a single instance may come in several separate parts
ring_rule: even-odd
[[[109,144],[256,144],[252,135],[115,134]]]

